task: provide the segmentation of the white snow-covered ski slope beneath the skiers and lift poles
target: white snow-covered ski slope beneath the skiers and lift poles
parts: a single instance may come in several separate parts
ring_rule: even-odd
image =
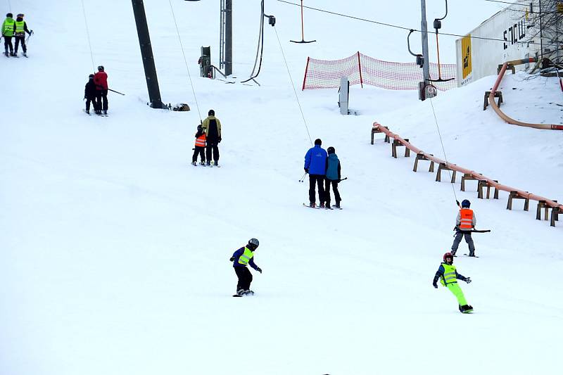
[[[297,2],[297,1],[296,1]],[[277,17],[265,30],[261,86],[198,77],[201,45],[217,63],[219,1],[172,1],[198,106],[168,1],[146,0],[165,102],[188,113],[148,108],[128,1],[12,1],[36,34],[29,59],[3,58],[0,77],[0,374],[457,374],[555,372],[563,334],[558,297],[563,222],[552,228],[514,203],[470,199],[479,259],[456,258],[472,315],[432,288],[452,239],[451,185],[412,172],[414,158],[391,158],[372,122],[424,151],[500,182],[563,199],[563,133],[507,125],[482,110],[495,77],[417,101],[414,91],[350,89],[343,117],[336,90],[297,91],[306,56],[362,51],[410,61],[406,33],[307,11],[298,45],[298,8],[266,1]],[[217,4],[215,4],[217,3]],[[234,72],[252,70],[260,1],[236,1]],[[307,1],[308,5],[407,27],[418,1]],[[412,3],[412,4],[411,4]],[[474,11],[450,4],[445,30],[464,33],[498,4]],[[430,8],[430,6],[429,6]],[[400,12],[401,11],[401,12]],[[432,12],[432,13],[431,13]],[[429,20],[441,17],[432,4]],[[334,25],[334,27],[331,27]],[[343,31],[346,30],[346,31]],[[385,36],[385,37],[382,37]],[[455,60],[454,39],[441,43]],[[449,49],[449,52],[448,52]],[[87,117],[83,85],[106,66],[110,117]],[[515,89],[512,89],[512,88]],[[560,123],[556,80],[507,75],[502,109],[512,117]],[[200,115],[223,124],[222,168],[192,167]],[[334,146],[342,163],[343,210],[309,210],[298,182],[311,138]],[[444,180],[447,178],[444,177]],[[260,239],[251,298],[231,298],[229,257]],[[460,253],[467,245],[462,243]]]

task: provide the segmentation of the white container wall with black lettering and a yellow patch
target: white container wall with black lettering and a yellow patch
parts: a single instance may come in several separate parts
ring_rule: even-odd
[[[517,3],[529,4],[530,1],[521,0]],[[539,46],[518,43],[529,41],[534,30],[525,10],[526,6],[522,5],[508,6],[481,23],[466,37],[456,40],[458,86],[465,86],[487,75],[496,75],[498,65],[505,61],[536,56]],[[502,39],[504,42],[476,37]],[[536,39],[534,42],[539,42],[539,38]],[[525,68],[526,65],[517,66],[518,70]]]

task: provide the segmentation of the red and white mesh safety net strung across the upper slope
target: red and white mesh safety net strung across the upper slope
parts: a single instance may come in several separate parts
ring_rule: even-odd
[[[442,79],[448,81],[432,82],[436,89],[445,91],[457,87],[455,64],[441,64],[440,69]],[[423,80],[422,68],[415,63],[392,63],[358,52],[341,60],[308,58],[303,90],[340,87],[341,77],[348,77],[350,84],[369,84],[390,90],[417,90]],[[438,64],[430,63],[430,77],[438,79]]]

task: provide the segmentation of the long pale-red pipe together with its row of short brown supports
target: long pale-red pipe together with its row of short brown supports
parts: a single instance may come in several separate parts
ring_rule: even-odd
[[[524,210],[529,210],[529,202],[538,201],[538,206],[536,208],[536,220],[541,219],[541,210],[545,210],[544,218],[548,220],[548,210],[551,210],[551,217],[550,217],[550,225],[555,227],[555,222],[559,221],[559,213],[563,213],[563,205],[557,203],[557,201],[544,198],[543,196],[538,196],[533,193],[529,193],[528,191],[523,191],[520,189],[515,189],[511,186],[499,184],[498,180],[490,179],[489,177],[483,176],[483,174],[477,173],[473,170],[468,170],[467,168],[460,167],[459,165],[455,165],[453,163],[448,163],[445,160],[441,160],[436,158],[431,153],[425,153],[424,151],[419,150],[415,146],[409,143],[408,139],[403,139],[397,134],[394,134],[389,130],[388,127],[384,127],[380,125],[378,122],[374,122],[372,127],[372,144],[374,144],[374,134],[377,133],[384,133],[385,134],[385,142],[391,143],[391,138],[393,139],[393,143],[391,143],[391,155],[393,158],[397,158],[397,146],[405,146],[405,157],[410,156],[410,152],[412,151],[417,155],[415,160],[415,167],[413,168],[414,172],[417,172],[418,163],[420,160],[429,160],[431,162],[429,172],[434,172],[434,164],[438,164],[438,172],[436,172],[436,181],[441,181],[441,171],[442,170],[451,170],[453,171],[453,176],[451,182],[455,182],[456,174],[455,172],[462,173],[462,191],[465,190],[465,182],[467,180],[474,180],[477,181],[477,198],[484,198],[486,189],[486,198],[489,198],[491,188],[494,188],[494,199],[498,199],[498,191],[506,191],[509,193],[508,196],[508,203],[507,203],[507,210],[512,210],[512,201],[514,199],[522,199],[524,200]]]

